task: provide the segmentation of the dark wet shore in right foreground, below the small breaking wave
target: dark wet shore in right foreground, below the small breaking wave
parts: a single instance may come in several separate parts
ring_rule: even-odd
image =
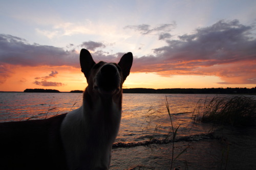
[[[255,169],[256,129],[222,129],[215,139],[175,142],[174,162],[179,169]],[[170,169],[172,143],[115,148],[111,169]]]

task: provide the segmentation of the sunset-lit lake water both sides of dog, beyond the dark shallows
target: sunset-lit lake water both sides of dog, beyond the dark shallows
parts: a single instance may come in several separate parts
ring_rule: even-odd
[[[170,118],[178,136],[207,133],[209,124],[191,122],[199,99],[216,94],[123,94],[122,120],[116,142],[138,142],[151,138],[162,139],[170,131]],[[82,104],[82,93],[0,93],[0,122],[44,119],[77,109]]]

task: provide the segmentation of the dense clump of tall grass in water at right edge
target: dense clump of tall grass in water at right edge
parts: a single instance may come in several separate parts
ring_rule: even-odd
[[[193,111],[192,119],[221,125],[252,125],[256,117],[256,99],[253,96],[215,96],[200,99]]]

